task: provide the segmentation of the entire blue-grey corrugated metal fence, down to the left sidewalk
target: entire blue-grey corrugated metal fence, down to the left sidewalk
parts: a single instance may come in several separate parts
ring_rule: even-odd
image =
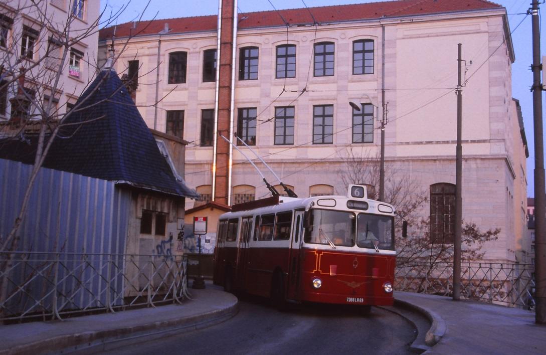
[[[31,172],[31,165],[0,159],[0,239],[13,228]],[[123,293],[126,270],[109,277],[105,268],[126,263],[130,192],[42,168],[27,206],[16,244],[0,255],[0,318],[34,314],[35,307],[47,313],[55,297],[67,298],[62,309],[121,304],[108,301],[106,292]]]

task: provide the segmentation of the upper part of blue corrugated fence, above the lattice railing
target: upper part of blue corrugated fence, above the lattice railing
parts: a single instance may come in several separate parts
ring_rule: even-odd
[[[0,236],[21,208],[31,165],[0,159]],[[42,168],[19,229],[17,251],[125,251],[130,193],[114,182]]]

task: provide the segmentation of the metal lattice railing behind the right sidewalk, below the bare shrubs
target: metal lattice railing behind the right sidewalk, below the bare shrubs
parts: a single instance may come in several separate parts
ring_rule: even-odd
[[[532,309],[535,265],[462,263],[461,298]],[[395,289],[451,296],[453,264],[397,261]]]

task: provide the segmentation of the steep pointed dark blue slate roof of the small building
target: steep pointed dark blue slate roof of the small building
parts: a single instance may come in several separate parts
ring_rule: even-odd
[[[114,70],[100,72],[80,96],[44,166],[180,197],[198,197],[176,179]]]

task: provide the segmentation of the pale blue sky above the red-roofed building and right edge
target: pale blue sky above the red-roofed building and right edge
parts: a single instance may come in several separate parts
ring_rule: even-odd
[[[371,0],[304,0],[308,7],[339,5],[339,4],[357,4],[369,3]],[[527,135],[527,143],[529,143],[530,157],[527,159],[527,182],[529,187],[527,192],[529,196],[534,195],[533,186],[533,169],[535,167],[535,149],[533,144],[533,111],[532,111],[532,94],[529,90],[532,85],[532,73],[530,65],[532,62],[531,48],[531,16],[527,16],[524,20],[525,13],[530,7],[531,0],[497,0],[494,1],[503,5],[508,13],[514,44],[516,61],[512,66],[512,96],[520,100],[521,110],[525,123],[525,133]],[[120,9],[124,4],[127,9],[119,17],[118,23],[129,22],[138,19],[143,13],[148,0],[101,0],[101,7],[106,10]],[[301,8],[304,3],[301,0],[271,0],[271,3],[277,9]],[[238,0],[240,12],[252,12],[261,10],[273,10],[273,7],[268,0]],[[541,9],[541,13],[543,9]],[[150,20],[153,17],[157,19],[168,19],[172,17],[187,17],[199,15],[215,15],[218,13],[217,0],[151,0],[143,15],[143,20]],[[523,14],[522,14],[523,13]],[[523,23],[518,26],[518,23],[523,20]],[[541,28],[544,28],[542,25]],[[514,31],[515,29],[515,31]],[[546,35],[541,38],[542,53],[546,50]],[[464,56],[463,56],[464,57]],[[544,94],[543,94],[544,97]],[[464,101],[464,91],[463,91]],[[544,99],[542,100],[544,105]],[[546,108],[545,108],[546,110]],[[463,137],[464,139],[464,137]],[[463,147],[464,152],[464,147]]]

